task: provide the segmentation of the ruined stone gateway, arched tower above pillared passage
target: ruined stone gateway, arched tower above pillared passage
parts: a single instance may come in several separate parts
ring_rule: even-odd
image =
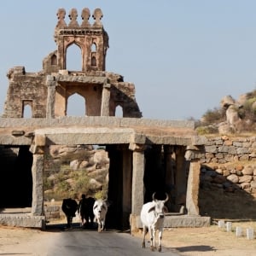
[[[93,23],[87,8],[80,23],[76,9],[71,9],[68,24],[65,16],[66,10],[59,9],[57,49],[44,58],[43,70],[26,73],[25,67],[13,67],[8,73],[0,159],[9,168],[1,170],[0,189],[5,197],[0,207],[31,207],[31,212],[0,214],[0,223],[44,228],[44,159],[50,145],[103,145],[110,159],[113,228],[141,227],[141,207],[154,192],[159,197],[170,195],[166,226],[210,224],[198,208],[205,137],[196,135],[191,121],[142,118],[134,84],[105,70],[108,33],[102,26],[101,9],[94,11]],[[67,70],[69,47],[80,50],[79,71]],[[83,117],[67,115],[68,100],[74,94],[84,99]],[[116,117],[117,108],[122,109],[122,117]]]

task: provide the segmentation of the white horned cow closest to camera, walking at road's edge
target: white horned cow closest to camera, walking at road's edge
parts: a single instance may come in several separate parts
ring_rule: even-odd
[[[163,201],[157,200],[153,194],[153,201],[149,201],[143,205],[141,211],[141,220],[143,223],[143,248],[145,248],[145,236],[149,233],[150,236],[150,249],[151,251],[156,250],[155,246],[155,236],[156,230],[159,231],[159,241],[158,241],[158,251],[160,252],[162,233],[164,228],[165,213],[168,212],[167,207],[165,206],[166,201],[169,197],[166,194],[166,199]]]

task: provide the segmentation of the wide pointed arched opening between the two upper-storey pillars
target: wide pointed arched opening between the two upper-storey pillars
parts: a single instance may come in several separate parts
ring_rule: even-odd
[[[67,115],[84,116],[86,115],[86,104],[83,96],[78,93],[69,96],[67,99]]]

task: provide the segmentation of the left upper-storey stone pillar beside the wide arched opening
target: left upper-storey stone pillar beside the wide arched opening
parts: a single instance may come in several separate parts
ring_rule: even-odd
[[[55,118],[55,87],[56,81],[54,76],[48,75],[46,78],[46,86],[48,88],[47,104],[46,104],[46,118]]]

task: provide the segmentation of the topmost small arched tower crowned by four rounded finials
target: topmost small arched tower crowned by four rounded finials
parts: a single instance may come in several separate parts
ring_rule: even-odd
[[[82,71],[105,71],[105,60],[108,49],[108,33],[102,26],[102,10],[95,9],[92,17],[95,22],[91,25],[90,10],[82,10],[82,24],[77,21],[77,9],[71,9],[68,17],[70,22],[65,22],[65,9],[57,12],[58,23],[55,26],[55,43],[57,44],[58,69],[67,69],[67,48],[76,44],[81,49]]]

